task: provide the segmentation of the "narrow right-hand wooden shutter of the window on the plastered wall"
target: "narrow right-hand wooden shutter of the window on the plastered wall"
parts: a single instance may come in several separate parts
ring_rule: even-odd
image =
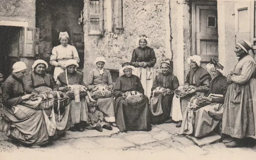
[[[112,22],[113,33],[123,33],[123,2],[122,0],[112,0]]]

